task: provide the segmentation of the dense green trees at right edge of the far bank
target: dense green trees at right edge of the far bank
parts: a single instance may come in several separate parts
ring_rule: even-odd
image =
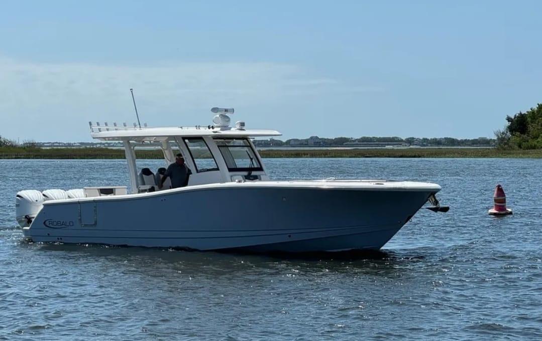
[[[508,124],[495,131],[497,146],[512,149],[542,149],[542,104],[536,108],[506,116]]]

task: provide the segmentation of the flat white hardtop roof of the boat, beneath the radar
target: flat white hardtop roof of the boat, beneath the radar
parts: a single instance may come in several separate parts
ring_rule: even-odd
[[[163,141],[169,136],[280,136],[281,133],[276,130],[266,129],[247,129],[238,130],[229,128],[221,130],[220,128],[209,129],[208,127],[162,127],[162,128],[132,128],[132,127],[112,127],[112,126],[91,126],[91,136],[93,139],[104,141]]]

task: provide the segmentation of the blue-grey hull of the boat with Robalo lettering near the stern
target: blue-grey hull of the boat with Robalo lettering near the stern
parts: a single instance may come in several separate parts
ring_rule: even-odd
[[[256,252],[378,250],[438,187],[201,186],[47,202],[37,242]],[[193,186],[196,187],[196,186]]]

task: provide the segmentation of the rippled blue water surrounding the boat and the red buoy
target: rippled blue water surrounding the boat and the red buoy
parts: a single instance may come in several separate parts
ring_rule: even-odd
[[[542,160],[266,163],[275,179],[437,182],[451,210],[424,209],[371,257],[26,244],[17,191],[125,185],[126,165],[0,160],[0,339],[542,338]],[[487,215],[496,183],[511,217]]]

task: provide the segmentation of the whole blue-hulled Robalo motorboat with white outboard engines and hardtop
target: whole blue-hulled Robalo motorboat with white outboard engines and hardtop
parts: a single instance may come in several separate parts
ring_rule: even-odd
[[[378,250],[430,199],[435,183],[389,180],[274,181],[250,137],[275,130],[229,126],[233,109],[213,108],[214,126],[91,126],[122,141],[130,186],[21,191],[16,218],[35,242],[195,250],[317,252]],[[158,188],[164,169],[138,170],[134,149],[158,147],[164,166],[184,155],[188,186]]]

